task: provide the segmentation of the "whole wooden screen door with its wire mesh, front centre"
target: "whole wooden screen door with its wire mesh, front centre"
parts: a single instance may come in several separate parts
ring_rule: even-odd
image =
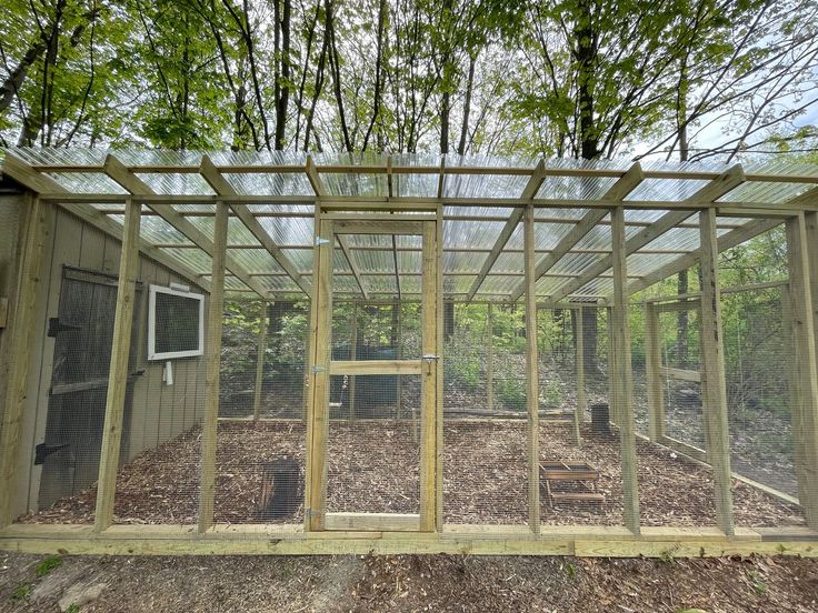
[[[323,219],[319,234],[309,390],[308,530],[433,531],[438,469],[436,222],[339,215]],[[420,257],[403,264],[416,270],[401,270],[395,249],[401,241],[419,248]],[[388,300],[375,291],[366,292],[356,312],[382,302],[402,308],[400,285],[409,285],[408,279],[412,278],[415,289],[407,301],[415,304],[418,342],[410,354],[362,351],[367,348],[358,341],[366,329],[356,330],[356,344],[346,353],[339,352],[339,344],[333,342],[333,335],[343,331],[338,313],[345,306],[349,310],[349,297],[342,294],[348,293],[351,279],[365,290],[377,284],[368,282],[366,274],[372,262],[351,254],[363,244],[375,245],[366,251],[361,248],[370,255],[379,251],[378,245],[383,245],[383,254],[391,250],[392,273],[397,274]],[[385,277],[392,273],[378,271]],[[346,282],[341,282],[343,279]],[[407,383],[401,386],[391,380]],[[355,409],[338,396],[339,389],[350,389],[348,383],[358,393]],[[397,396],[396,389],[402,390]],[[416,410],[401,413],[395,408],[392,412],[395,402],[400,405],[401,398],[409,398],[407,390],[409,395],[417,392],[410,401]]]

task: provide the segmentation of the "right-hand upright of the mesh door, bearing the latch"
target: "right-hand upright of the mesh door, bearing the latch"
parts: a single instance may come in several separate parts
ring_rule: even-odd
[[[422,251],[422,355],[437,355],[437,312],[435,293],[437,289],[437,253],[435,250],[435,222],[423,223]],[[423,359],[423,373],[420,375],[421,430],[420,430],[420,530],[433,532],[437,525],[437,362],[435,358]]]

